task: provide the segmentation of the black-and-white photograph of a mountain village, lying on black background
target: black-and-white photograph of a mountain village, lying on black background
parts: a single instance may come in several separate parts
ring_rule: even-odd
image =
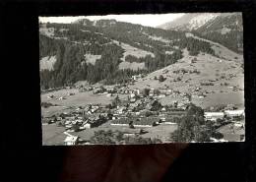
[[[43,146],[245,141],[242,13],[38,23]]]

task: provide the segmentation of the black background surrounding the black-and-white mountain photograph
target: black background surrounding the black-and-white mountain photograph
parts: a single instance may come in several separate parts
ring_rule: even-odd
[[[254,1],[0,2],[0,181],[255,181]],[[42,147],[38,16],[243,12],[246,142]]]

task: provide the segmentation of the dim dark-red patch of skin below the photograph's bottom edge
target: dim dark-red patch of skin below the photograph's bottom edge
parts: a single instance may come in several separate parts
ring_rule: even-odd
[[[90,146],[66,150],[60,181],[160,181],[188,144]]]

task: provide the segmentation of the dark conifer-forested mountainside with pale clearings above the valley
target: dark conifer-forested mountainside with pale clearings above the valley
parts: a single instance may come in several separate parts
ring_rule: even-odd
[[[41,88],[63,87],[78,81],[124,84],[133,75],[151,74],[177,63],[184,51],[189,56],[209,54],[242,63],[241,55],[197,33],[199,29],[162,30],[115,20],[40,24]]]

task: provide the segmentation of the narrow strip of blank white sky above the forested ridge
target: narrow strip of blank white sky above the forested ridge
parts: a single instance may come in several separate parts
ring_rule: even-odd
[[[77,16],[77,17],[39,17],[42,23],[72,23],[78,19],[89,19],[91,21],[100,19],[114,19],[119,22],[128,22],[132,24],[140,24],[148,27],[158,27],[164,23],[170,22],[184,15],[176,14],[143,14],[143,15],[106,15],[106,16]]]

